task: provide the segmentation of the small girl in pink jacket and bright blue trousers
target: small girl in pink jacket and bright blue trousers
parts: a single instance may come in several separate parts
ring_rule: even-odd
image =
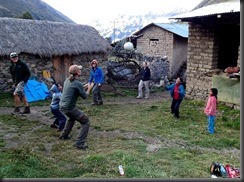
[[[209,90],[208,101],[204,109],[204,113],[208,117],[208,126],[207,130],[210,134],[214,133],[214,124],[217,111],[217,95],[218,90],[216,88],[211,88]]]

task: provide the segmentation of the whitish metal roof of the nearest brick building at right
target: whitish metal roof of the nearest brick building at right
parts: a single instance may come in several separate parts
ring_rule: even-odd
[[[170,19],[194,18],[194,17],[209,16],[209,15],[216,15],[216,14],[223,14],[223,13],[240,12],[240,6],[241,6],[240,2],[226,2],[226,3],[212,4],[193,11],[189,11],[187,13],[170,17]]]

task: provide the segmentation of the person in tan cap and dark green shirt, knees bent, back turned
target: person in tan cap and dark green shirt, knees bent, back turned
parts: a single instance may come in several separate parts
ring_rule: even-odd
[[[61,140],[70,138],[69,134],[74,126],[75,121],[81,124],[81,130],[76,138],[75,147],[85,150],[88,148],[87,135],[90,128],[89,118],[76,107],[76,101],[79,97],[87,98],[83,84],[78,79],[81,75],[82,66],[71,65],[69,67],[70,76],[65,80],[63,94],[60,100],[60,108],[63,113],[69,118],[66,122],[64,130],[60,135]]]

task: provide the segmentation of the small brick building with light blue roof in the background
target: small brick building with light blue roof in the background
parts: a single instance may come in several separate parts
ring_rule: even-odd
[[[131,36],[132,42],[145,56],[167,58],[168,77],[176,76],[187,60],[187,23],[151,23]]]

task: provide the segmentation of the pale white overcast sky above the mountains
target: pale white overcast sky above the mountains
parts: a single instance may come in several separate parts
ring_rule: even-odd
[[[192,9],[202,0],[42,0],[78,24],[112,19],[119,14],[138,15],[174,8]]]

